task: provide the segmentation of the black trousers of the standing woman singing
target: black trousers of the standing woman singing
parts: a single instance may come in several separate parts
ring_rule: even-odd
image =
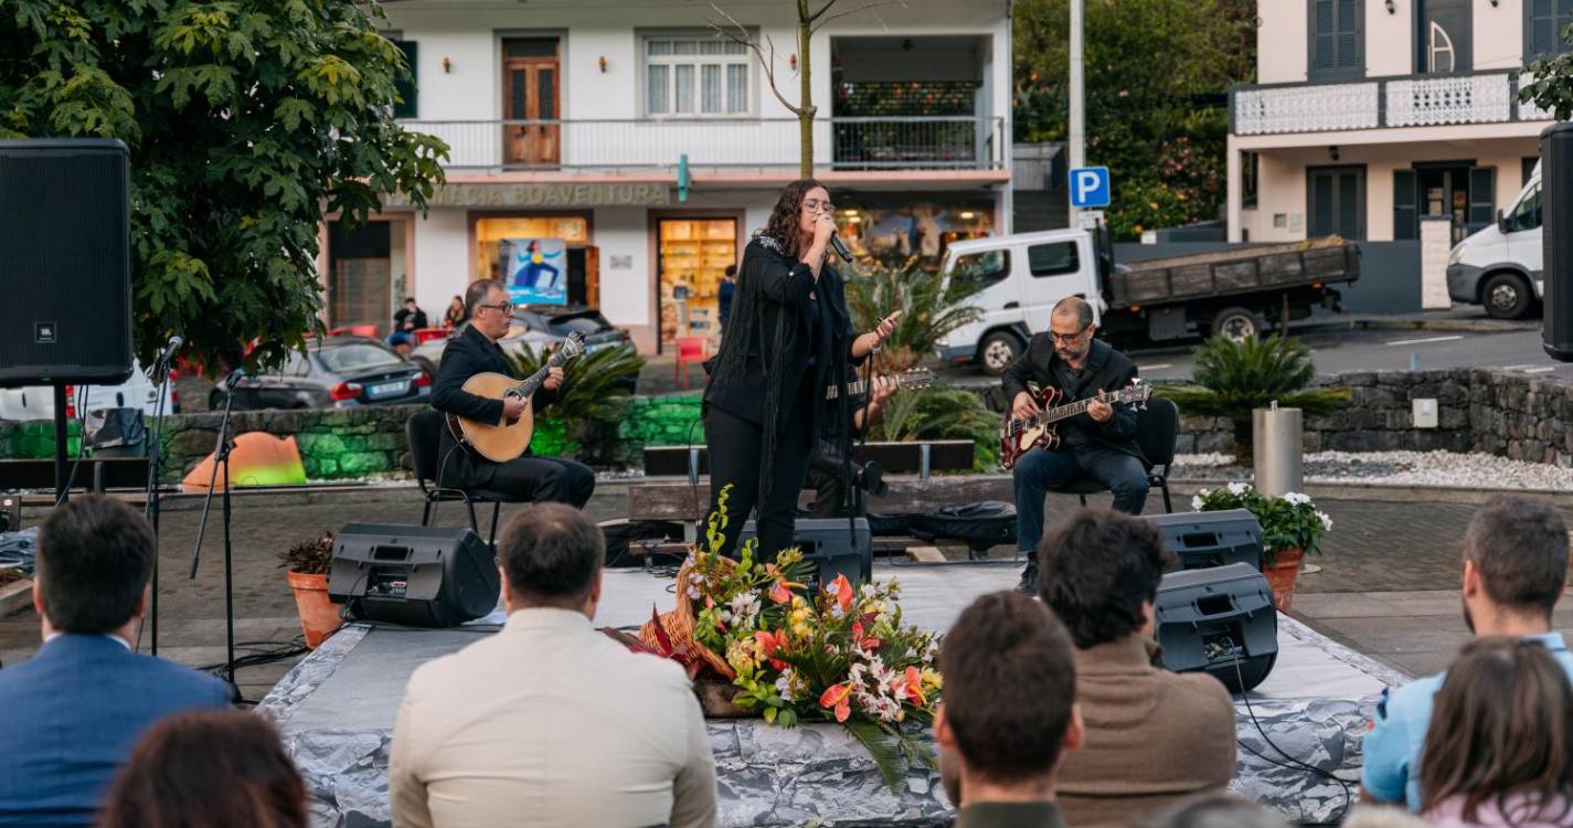
[[[799,406],[802,408],[802,406]],[[735,417],[711,408],[705,416],[705,445],[709,452],[709,512],[720,510],[720,490],[728,483],[727,527],[720,553],[735,557],[738,535],[742,532],[749,512],[758,507],[760,546],[757,560],[774,560],[775,554],[793,545],[793,527],[798,519],[798,493],[802,491],[802,475],[809,466],[813,447],[807,416],[785,419],[786,430],[775,441],[775,458],[771,466],[771,496],[760,504],[760,464],[763,463],[764,428],[742,417]],[[700,535],[705,534],[700,527]]]

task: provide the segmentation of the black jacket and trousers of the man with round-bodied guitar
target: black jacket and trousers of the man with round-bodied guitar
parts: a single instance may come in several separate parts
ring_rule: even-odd
[[[464,326],[442,351],[437,381],[431,386],[431,408],[472,420],[500,422],[502,400],[488,400],[464,390],[464,383],[483,371],[505,375],[508,360],[495,342],[486,338],[473,324]],[[530,398],[536,416],[554,401],[557,392],[547,390],[546,386],[536,389]],[[467,445],[461,447],[448,428],[442,430],[439,452],[442,466],[437,485],[442,486],[511,491],[530,497],[532,502],[549,501],[576,508],[584,508],[595,493],[595,472],[573,460],[525,453],[507,463],[492,463]]]

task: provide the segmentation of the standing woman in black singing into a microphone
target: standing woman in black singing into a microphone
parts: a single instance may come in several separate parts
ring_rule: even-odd
[[[705,389],[711,515],[731,485],[722,515],[728,556],[755,505],[760,559],[793,545],[813,434],[820,417],[837,411],[823,405],[827,386],[838,384],[846,400],[848,360],[878,351],[900,315],[854,334],[842,277],[826,263],[834,211],[823,184],[793,181],[742,252],[727,335]],[[845,422],[829,425],[846,433]]]

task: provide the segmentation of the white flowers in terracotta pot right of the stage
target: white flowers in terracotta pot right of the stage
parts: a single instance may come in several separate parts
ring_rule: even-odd
[[[1191,499],[1195,512],[1244,508],[1262,524],[1262,573],[1273,586],[1273,603],[1288,612],[1295,603],[1295,576],[1307,553],[1317,553],[1317,542],[1332,530],[1332,518],[1317,508],[1310,497],[1262,494],[1251,483],[1229,483],[1219,490],[1202,490]]]

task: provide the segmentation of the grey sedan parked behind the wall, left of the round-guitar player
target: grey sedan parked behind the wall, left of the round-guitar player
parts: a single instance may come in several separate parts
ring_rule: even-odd
[[[278,368],[238,379],[234,409],[407,405],[431,397],[431,373],[378,340],[329,337],[307,349],[307,356],[291,351]],[[223,408],[225,387],[228,378],[212,389],[211,408]]]

